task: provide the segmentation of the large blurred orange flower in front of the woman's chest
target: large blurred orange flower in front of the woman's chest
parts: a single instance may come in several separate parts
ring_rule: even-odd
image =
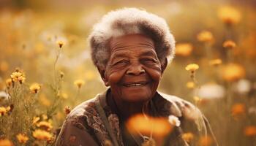
[[[132,134],[139,131],[142,134],[154,134],[154,136],[163,137],[170,133],[172,126],[166,118],[145,118],[144,115],[135,115],[129,118],[127,128]]]

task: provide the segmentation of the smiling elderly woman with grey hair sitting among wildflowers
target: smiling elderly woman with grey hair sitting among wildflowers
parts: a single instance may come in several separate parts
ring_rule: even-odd
[[[89,40],[92,61],[110,88],[72,110],[56,145],[159,145],[154,135],[127,129],[127,120],[140,113],[178,117],[181,126],[174,128],[165,145],[192,145],[182,139],[184,132],[206,132],[208,124],[196,107],[157,91],[175,50],[164,19],[140,9],[118,9],[94,26]]]

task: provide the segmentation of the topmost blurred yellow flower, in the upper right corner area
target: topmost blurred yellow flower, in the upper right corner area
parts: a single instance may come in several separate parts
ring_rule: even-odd
[[[219,18],[227,25],[239,23],[241,13],[233,7],[221,7],[218,12]]]

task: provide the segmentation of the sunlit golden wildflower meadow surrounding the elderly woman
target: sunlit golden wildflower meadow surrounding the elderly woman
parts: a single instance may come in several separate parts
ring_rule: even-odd
[[[215,138],[219,145],[256,145],[254,1],[48,2],[0,2],[0,146],[54,145],[72,108],[105,91],[86,37],[119,7],[162,16],[176,37],[176,58],[159,91],[197,105],[216,136],[194,139],[188,132],[182,138],[200,146]],[[152,132],[153,123],[161,141],[172,130],[166,122],[137,116],[128,124]],[[178,122],[169,118],[173,126]]]

